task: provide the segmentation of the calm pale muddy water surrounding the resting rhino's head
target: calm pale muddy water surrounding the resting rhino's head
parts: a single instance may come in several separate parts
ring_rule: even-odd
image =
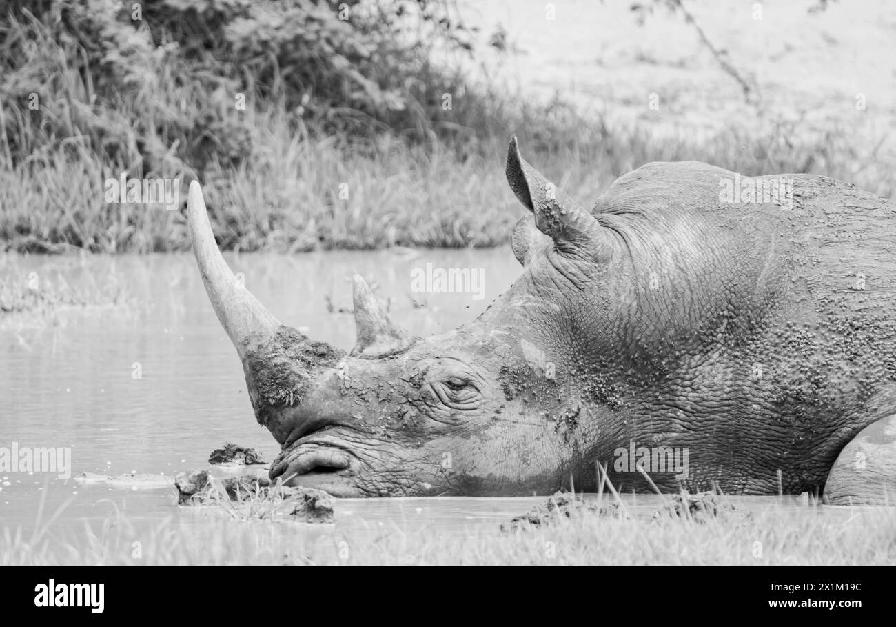
[[[354,272],[366,276],[392,318],[418,335],[475,318],[520,272],[506,248],[229,255],[228,263],[281,321],[343,349],[355,335],[346,312]],[[427,263],[482,268],[483,289],[413,292],[411,272],[425,272]],[[0,314],[0,447],[15,442],[20,448],[69,449],[72,456],[68,477],[0,472],[0,527],[22,527],[27,536],[38,518],[47,521],[65,503],[51,526],[60,534],[81,529],[85,521],[99,526],[116,509],[135,526],[188,526],[197,537],[211,533],[209,515],[178,508],[173,488],[158,479],[207,467],[211,450],[226,441],[257,448],[268,459],[278,448],[254,420],[240,363],[193,258],[0,257],[0,278],[56,288],[65,282],[82,299],[97,302],[38,316]],[[115,304],[104,302],[110,293],[118,295]],[[134,489],[85,485],[74,480],[82,473],[152,475],[157,481]],[[300,538],[314,555],[314,546],[332,547],[340,538],[375,541],[422,530],[476,536],[540,501],[348,500],[339,502],[335,526],[304,526],[297,533],[295,525],[262,523],[240,533],[249,542],[271,534]],[[761,509],[768,500],[744,502]],[[639,496],[630,505],[649,513],[658,502]]]

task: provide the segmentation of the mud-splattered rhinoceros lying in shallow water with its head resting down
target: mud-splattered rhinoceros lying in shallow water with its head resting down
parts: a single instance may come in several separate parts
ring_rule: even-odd
[[[522,160],[515,137],[506,175],[529,210],[511,237],[513,286],[470,324],[420,338],[355,275],[349,353],[281,325],[237,281],[191,184],[202,281],[281,446],[271,478],[346,497],[608,480],[893,500],[886,199],[823,176],[655,162],[587,211]]]

